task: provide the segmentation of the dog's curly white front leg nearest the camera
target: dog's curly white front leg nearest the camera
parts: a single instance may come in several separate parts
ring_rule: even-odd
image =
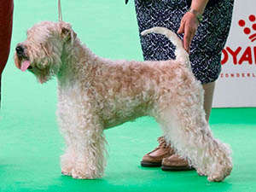
[[[73,146],[75,162],[72,177],[98,178],[102,177],[105,160],[105,138],[102,124],[95,118],[84,119],[73,131]]]

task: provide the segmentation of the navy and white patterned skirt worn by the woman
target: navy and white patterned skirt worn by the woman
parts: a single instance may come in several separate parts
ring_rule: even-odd
[[[211,0],[210,0],[211,1]],[[164,26],[177,32],[188,0],[135,0],[139,31]],[[209,3],[204,20],[198,27],[190,47],[189,59],[195,78],[201,84],[214,82],[221,72],[221,53],[230,32],[234,0]],[[179,35],[183,38],[182,35]],[[163,35],[140,36],[146,61],[174,59],[174,45]]]

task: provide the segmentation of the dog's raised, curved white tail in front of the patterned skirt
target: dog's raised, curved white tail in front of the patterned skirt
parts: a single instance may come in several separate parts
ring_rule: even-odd
[[[178,61],[181,61],[181,63],[184,64],[186,67],[190,67],[189,54],[185,49],[183,49],[183,43],[181,39],[177,37],[177,34],[175,32],[172,32],[171,30],[166,29],[165,27],[153,27],[143,31],[141,34],[144,36],[144,35],[147,35],[148,33],[158,33],[158,34],[165,35],[166,38],[169,38],[172,44],[176,46],[176,49],[175,49],[176,59]]]

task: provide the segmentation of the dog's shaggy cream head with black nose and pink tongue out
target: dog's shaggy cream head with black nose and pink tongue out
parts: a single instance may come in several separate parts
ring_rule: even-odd
[[[61,56],[73,49],[76,33],[66,22],[44,21],[32,26],[26,35],[16,46],[15,66],[34,73],[43,84],[59,72]]]

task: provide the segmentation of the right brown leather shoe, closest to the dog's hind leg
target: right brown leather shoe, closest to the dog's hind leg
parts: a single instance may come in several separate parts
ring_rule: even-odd
[[[187,160],[180,158],[178,154],[172,154],[172,156],[166,157],[162,160],[163,171],[188,171],[194,170],[193,166],[189,166]]]

